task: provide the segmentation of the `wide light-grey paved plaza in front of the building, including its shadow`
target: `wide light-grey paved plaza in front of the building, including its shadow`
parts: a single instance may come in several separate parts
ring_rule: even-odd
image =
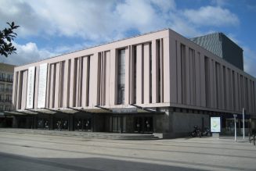
[[[256,147],[241,137],[124,141],[11,130],[0,129],[0,170],[256,170]]]

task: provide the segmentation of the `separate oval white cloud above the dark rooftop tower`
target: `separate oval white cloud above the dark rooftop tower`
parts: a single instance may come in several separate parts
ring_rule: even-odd
[[[238,17],[230,12],[229,9],[223,9],[215,6],[203,6],[200,9],[186,9],[184,16],[193,24],[197,26],[237,26],[240,21]]]

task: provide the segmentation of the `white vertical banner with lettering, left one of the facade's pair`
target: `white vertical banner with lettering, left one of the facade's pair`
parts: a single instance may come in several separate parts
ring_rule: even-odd
[[[34,104],[34,66],[28,68],[27,74],[27,109],[33,109]]]

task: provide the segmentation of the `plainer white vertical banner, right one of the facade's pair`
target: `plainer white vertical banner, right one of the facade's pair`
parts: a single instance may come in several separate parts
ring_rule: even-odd
[[[38,108],[45,108],[47,66],[47,63],[44,63],[39,68]]]

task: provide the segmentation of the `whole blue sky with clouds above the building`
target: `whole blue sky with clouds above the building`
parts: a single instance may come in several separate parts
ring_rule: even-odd
[[[169,27],[185,37],[223,32],[256,77],[255,18],[254,0],[0,0],[0,29],[20,25],[17,54],[0,62],[22,65]]]

